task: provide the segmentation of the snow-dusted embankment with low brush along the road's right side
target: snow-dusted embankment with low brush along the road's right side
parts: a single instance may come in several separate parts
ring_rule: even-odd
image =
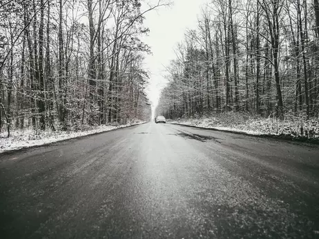
[[[280,121],[276,118],[261,118],[230,112],[210,118],[183,118],[180,121],[169,121],[169,123],[319,143],[318,119],[305,120],[305,118],[290,116],[287,120]]]

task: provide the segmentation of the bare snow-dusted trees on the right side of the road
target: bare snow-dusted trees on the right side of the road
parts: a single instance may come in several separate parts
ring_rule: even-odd
[[[318,118],[318,0],[213,0],[167,68],[156,114]]]

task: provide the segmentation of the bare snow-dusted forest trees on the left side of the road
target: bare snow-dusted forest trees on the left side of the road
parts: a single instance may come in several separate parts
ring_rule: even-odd
[[[148,120],[141,36],[156,3],[0,1],[0,130]]]

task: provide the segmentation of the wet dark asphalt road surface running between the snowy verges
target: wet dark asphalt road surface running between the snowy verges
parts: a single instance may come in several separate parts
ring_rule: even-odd
[[[0,238],[319,238],[319,147],[146,123],[0,154]]]

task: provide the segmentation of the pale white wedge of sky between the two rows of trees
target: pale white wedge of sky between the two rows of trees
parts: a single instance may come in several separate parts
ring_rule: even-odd
[[[151,47],[153,55],[146,56],[146,70],[151,72],[148,97],[156,107],[160,91],[167,82],[165,67],[175,59],[174,48],[183,40],[187,29],[197,26],[200,7],[209,0],[171,0],[173,6],[162,7],[145,14],[144,25],[150,29],[148,37],[143,37]]]

